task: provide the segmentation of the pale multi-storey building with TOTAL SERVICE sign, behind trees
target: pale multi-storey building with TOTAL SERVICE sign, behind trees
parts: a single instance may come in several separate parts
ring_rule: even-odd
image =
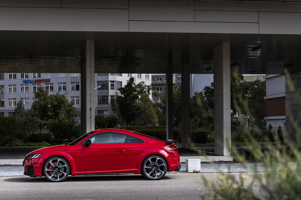
[[[119,95],[118,88],[126,85],[129,77],[136,83],[144,81],[151,84],[151,74],[95,74],[95,114],[112,114],[111,101]],[[0,73],[0,115],[14,113],[18,101],[22,101],[26,110],[35,101],[33,91],[44,87],[49,94],[65,94],[69,102],[80,110],[80,74],[79,73]],[[96,103],[97,102],[97,103]]]

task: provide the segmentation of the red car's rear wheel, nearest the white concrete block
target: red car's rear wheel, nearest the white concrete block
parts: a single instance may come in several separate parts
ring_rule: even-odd
[[[142,163],[142,175],[150,180],[159,180],[167,172],[167,163],[163,157],[151,155],[144,159]]]

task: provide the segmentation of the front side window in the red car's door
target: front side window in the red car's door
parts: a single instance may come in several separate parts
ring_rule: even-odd
[[[101,133],[91,139],[92,144],[124,143],[126,135],[118,133]]]

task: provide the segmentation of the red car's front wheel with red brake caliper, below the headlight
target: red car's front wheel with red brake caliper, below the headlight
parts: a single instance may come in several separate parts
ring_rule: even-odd
[[[70,172],[70,166],[62,157],[51,157],[44,164],[44,175],[48,181],[65,181]]]

